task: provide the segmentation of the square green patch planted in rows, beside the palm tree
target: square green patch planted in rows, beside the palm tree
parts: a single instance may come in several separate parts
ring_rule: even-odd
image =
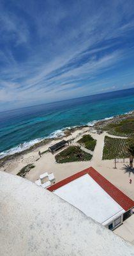
[[[103,159],[125,158],[128,157],[128,140],[116,139],[105,136]]]

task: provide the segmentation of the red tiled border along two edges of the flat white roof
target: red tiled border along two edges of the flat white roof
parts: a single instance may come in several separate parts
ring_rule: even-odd
[[[57,182],[56,184],[52,185],[50,188],[48,188],[49,191],[54,191],[58,188],[61,188],[62,186],[68,184],[69,182],[78,179],[79,177],[89,174],[97,183],[98,185],[103,188],[108,195],[110,195],[117,204],[121,205],[121,207],[128,211],[132,207],[134,207],[134,202],[131,200],[128,196],[126,196],[121,190],[116,188],[112,183],[110,183],[107,179],[105,179],[100,173],[98,173],[96,170],[94,170],[93,167],[89,167],[84,171],[78,172],[64,180],[61,180],[60,182]]]

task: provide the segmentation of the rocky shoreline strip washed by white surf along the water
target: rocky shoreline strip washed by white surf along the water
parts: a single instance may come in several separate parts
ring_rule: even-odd
[[[34,143],[33,145],[31,145],[30,147],[27,147],[24,150],[23,149],[20,150],[19,152],[13,152],[13,154],[7,154],[6,152],[5,153],[1,152],[0,153],[0,167],[3,166],[3,164],[6,163],[6,161],[10,161],[17,157],[24,156],[27,153],[34,152],[34,150],[40,150],[40,147],[43,147],[43,146],[47,145],[48,143],[51,143],[52,141],[66,139],[68,136],[71,136],[73,134],[73,132],[75,132],[75,131],[79,131],[83,128],[88,128],[89,131],[93,130],[93,129],[95,129],[95,130],[103,129],[103,127],[107,124],[121,122],[121,120],[123,120],[125,118],[132,117],[132,116],[134,116],[134,110],[129,111],[128,113],[124,113],[122,115],[111,116],[108,118],[106,117],[102,120],[93,120],[91,122],[88,122],[85,125],[77,125],[75,127],[66,127],[62,130],[52,132],[52,134],[56,134],[56,137],[53,137],[51,134],[47,138],[35,139],[34,141],[38,141],[38,142]],[[31,141],[29,141],[29,143],[31,143]],[[28,142],[27,142],[27,144],[28,144]],[[20,147],[20,146],[17,146],[17,147]],[[11,151],[13,151],[13,148],[11,148],[10,150],[6,150],[6,151],[11,152]],[[2,153],[3,153],[3,155],[2,155]],[[1,156],[3,156],[3,157],[1,157]]]

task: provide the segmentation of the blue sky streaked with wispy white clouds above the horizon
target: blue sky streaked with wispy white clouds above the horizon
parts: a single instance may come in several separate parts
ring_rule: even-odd
[[[133,0],[1,0],[1,111],[132,87]]]

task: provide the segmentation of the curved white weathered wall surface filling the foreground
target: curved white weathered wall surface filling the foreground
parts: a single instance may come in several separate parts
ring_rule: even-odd
[[[0,172],[1,256],[134,256],[134,247],[46,189]]]

